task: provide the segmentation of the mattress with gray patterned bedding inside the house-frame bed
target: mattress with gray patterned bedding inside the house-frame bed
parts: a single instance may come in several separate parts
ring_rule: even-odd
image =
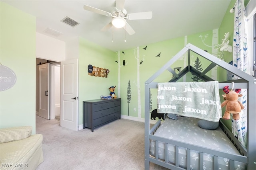
[[[170,140],[181,141],[197,145],[199,147],[206,147],[209,149],[219,150],[230,154],[238,154],[238,150],[228,139],[226,134],[218,127],[215,130],[206,130],[198,127],[200,119],[192,117],[178,117],[178,120],[166,118],[164,122],[158,127],[155,136],[165,137]],[[168,162],[175,164],[175,146],[168,144]],[[156,142],[150,140],[150,155],[156,156],[165,160],[165,146],[164,143],[158,142],[158,149],[156,150]],[[186,148],[179,147],[179,166],[187,168]],[[199,158],[200,153],[196,150],[190,150],[190,170],[200,169]],[[203,156],[204,170],[213,170],[214,156],[204,153]],[[229,170],[229,159],[218,156],[218,166],[220,170]],[[235,161],[235,169],[246,169],[246,164]]]

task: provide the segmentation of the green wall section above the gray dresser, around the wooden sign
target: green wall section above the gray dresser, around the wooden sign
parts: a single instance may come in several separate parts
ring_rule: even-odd
[[[108,88],[117,86],[118,68],[116,67],[116,53],[104,49],[83,38],[79,39],[79,115],[78,125],[83,121],[83,101],[100,99],[101,95],[109,95]],[[108,77],[96,77],[88,75],[88,65],[106,68]],[[118,95],[117,90],[115,91]]]

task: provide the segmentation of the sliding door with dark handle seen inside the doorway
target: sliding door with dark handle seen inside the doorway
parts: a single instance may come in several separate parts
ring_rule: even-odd
[[[38,115],[45,119],[50,119],[50,100],[49,100],[49,89],[50,89],[50,63],[41,64],[38,66]]]

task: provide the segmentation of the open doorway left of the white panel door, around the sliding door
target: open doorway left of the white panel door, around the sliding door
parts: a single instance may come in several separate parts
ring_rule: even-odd
[[[40,64],[50,63],[50,72],[48,73],[50,76],[49,87],[48,90],[49,96],[49,119],[56,119],[60,121],[60,63],[54,61],[48,61],[45,59],[36,58],[36,114],[38,115],[39,111],[39,100],[40,100],[40,91],[39,91],[39,71],[38,66]]]

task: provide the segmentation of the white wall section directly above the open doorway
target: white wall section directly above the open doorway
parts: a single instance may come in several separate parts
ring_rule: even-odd
[[[58,62],[65,61],[66,43],[41,33],[36,33],[36,58]]]

